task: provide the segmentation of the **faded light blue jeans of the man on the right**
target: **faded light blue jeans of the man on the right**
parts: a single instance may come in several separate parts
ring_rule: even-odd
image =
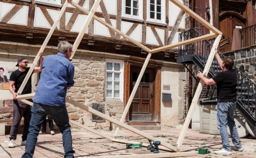
[[[238,130],[236,129],[234,122],[235,104],[235,102],[217,103],[217,127],[220,130],[222,147],[226,151],[231,151],[229,134],[227,133],[227,125],[230,129],[233,144],[237,149],[242,148]]]

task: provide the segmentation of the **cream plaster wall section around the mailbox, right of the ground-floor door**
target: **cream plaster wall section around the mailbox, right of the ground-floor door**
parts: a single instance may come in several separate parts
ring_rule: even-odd
[[[161,70],[161,126],[178,125],[179,68],[162,67]],[[163,90],[163,85],[170,85],[170,90]],[[162,93],[171,93],[172,101],[162,101]]]

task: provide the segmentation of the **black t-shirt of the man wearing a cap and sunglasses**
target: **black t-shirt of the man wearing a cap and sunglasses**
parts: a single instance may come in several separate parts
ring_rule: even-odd
[[[15,93],[18,92],[18,89],[20,88],[22,82],[24,81],[27,72],[29,72],[30,67],[27,67],[26,70],[24,72],[19,71],[18,69],[15,70],[11,76],[10,76],[10,81],[15,81],[14,86],[15,86]],[[32,73],[33,74],[33,73]],[[31,76],[32,76],[31,74]],[[23,91],[21,94],[30,94],[31,93],[31,76],[29,78],[29,80],[27,81]]]

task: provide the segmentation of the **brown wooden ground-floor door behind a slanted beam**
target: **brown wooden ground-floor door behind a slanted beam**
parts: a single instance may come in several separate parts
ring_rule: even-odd
[[[130,92],[132,91],[141,68],[130,67]],[[147,69],[141,78],[129,110],[129,121],[153,121],[153,78],[154,71]]]

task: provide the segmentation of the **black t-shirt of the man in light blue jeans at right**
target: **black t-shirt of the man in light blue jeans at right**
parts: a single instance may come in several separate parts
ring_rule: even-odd
[[[217,97],[219,102],[236,101],[236,71],[226,70],[218,73],[213,80],[217,83]]]

